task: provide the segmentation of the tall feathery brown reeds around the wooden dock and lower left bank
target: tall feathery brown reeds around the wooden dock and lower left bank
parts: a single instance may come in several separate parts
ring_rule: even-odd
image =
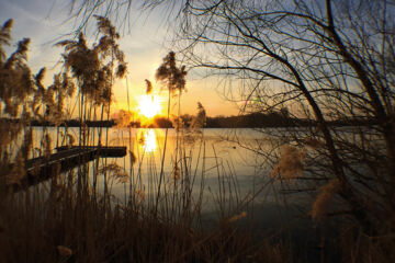
[[[162,165],[158,168],[156,162],[147,160],[145,152],[135,152],[138,141],[129,130],[129,171],[106,159],[95,159],[67,173],[54,171],[45,183],[14,191],[26,176],[24,163],[33,156],[32,150],[44,157],[53,150],[46,128],[42,130],[41,142],[32,142],[30,119],[61,118],[64,98],[71,100],[76,87],[81,119],[77,144],[86,146],[98,140],[109,144],[109,130],[104,130],[105,139],[101,140],[103,132],[91,133],[83,122],[97,115],[100,119],[104,114],[109,117],[113,73],[123,76],[126,64],[115,44],[119,35],[114,27],[108,20],[98,18],[98,21],[103,37],[92,48],[82,34],[77,41],[60,43],[66,47],[65,72],[55,76],[54,84],[48,88],[42,84],[44,70],[31,76],[25,65],[27,39],[22,41],[8,59],[0,49],[2,72],[8,70],[7,76],[13,76],[12,81],[23,91],[10,93],[12,81],[1,76],[1,117],[22,121],[1,123],[4,133],[0,149],[3,171],[0,176],[0,262],[289,262],[291,254],[284,252],[282,245],[272,245],[269,239],[257,241],[252,231],[241,231],[234,225],[246,214],[225,208],[226,195],[238,199],[233,197],[236,192],[230,191],[234,185],[227,184],[227,179],[234,182],[236,179],[234,174],[223,174],[219,163],[217,178],[222,187],[216,198],[219,217],[211,228],[204,226],[205,145],[200,140],[199,161],[192,163],[182,134],[177,136],[173,152],[177,158],[170,173],[163,170],[166,149]],[[7,22],[1,28],[1,47],[10,39],[11,24]],[[181,92],[184,68],[174,68],[174,54],[167,60],[173,71],[162,67],[160,78],[168,81],[169,94],[173,89]],[[69,73],[72,77],[68,77]],[[200,115],[203,116],[201,105]],[[74,137],[69,130],[65,128],[61,135],[60,132],[57,128],[56,145],[71,142]],[[143,182],[144,163],[148,163],[149,170],[147,184]],[[121,199],[112,193],[114,181],[124,184]]]

